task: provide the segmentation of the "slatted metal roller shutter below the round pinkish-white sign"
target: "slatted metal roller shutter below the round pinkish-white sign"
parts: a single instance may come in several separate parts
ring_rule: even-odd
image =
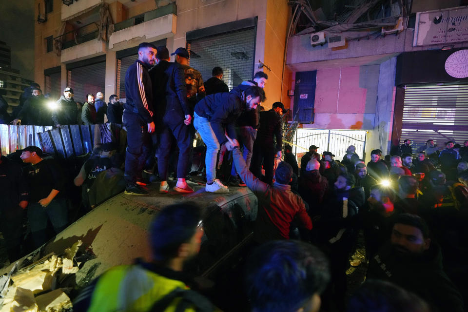
[[[411,140],[413,153],[433,139],[438,146],[468,138],[468,85],[405,87],[400,144]]]

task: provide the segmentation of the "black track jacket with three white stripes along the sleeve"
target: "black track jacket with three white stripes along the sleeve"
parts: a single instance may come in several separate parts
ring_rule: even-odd
[[[138,114],[146,123],[153,122],[153,91],[148,65],[140,60],[125,73],[125,110]]]

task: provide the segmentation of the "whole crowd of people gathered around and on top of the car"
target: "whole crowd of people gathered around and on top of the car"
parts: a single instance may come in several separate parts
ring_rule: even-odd
[[[443,148],[429,139],[413,153],[411,141],[404,140],[385,157],[380,149],[372,150],[367,164],[352,145],[341,161],[312,145],[299,166],[292,146],[283,147],[283,103],[261,110],[265,73],[257,72],[229,91],[221,68],[215,67],[203,84],[200,73],[188,65],[185,48],[172,55],[175,62],[169,61],[166,47],[139,45],[138,59],[125,75],[123,107],[115,95],[107,108],[100,92],[96,100],[87,95],[80,115],[84,123],[117,118],[127,132],[125,152],[102,144],[74,175],[87,210],[102,196],[122,191],[148,195],[145,187],[156,175],[159,193],[169,192],[172,173],[174,191],[192,193],[186,179],[196,167],[197,138],[204,143],[205,161],[204,170],[199,166],[195,174],[204,171],[206,192],[227,193],[225,184],[246,186],[258,198],[252,253],[239,277],[252,311],[464,311],[468,141],[463,146],[448,141]],[[40,111],[40,89],[32,86],[31,94],[17,123],[78,122],[72,88],[64,90],[59,109],[50,116],[34,113]],[[0,161],[6,177],[1,189],[11,207],[6,218],[2,210],[0,225],[12,260],[20,255],[19,215],[26,208],[36,246],[48,237],[47,222],[59,233],[69,220],[66,177],[57,162],[35,146],[20,152],[30,164],[23,169],[4,156]],[[77,298],[74,308],[214,311],[208,299],[190,290],[183,275],[184,264],[200,249],[202,228],[198,207],[165,208],[150,229],[153,261],[109,270]],[[367,279],[348,298],[347,271],[360,242]]]

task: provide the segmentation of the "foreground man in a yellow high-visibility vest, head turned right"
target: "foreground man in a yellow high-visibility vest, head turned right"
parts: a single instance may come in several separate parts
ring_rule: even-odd
[[[152,261],[114,267],[75,299],[75,311],[214,311],[190,290],[185,265],[200,251],[203,223],[199,207],[164,208],[150,225]],[[184,308],[185,307],[185,308]]]

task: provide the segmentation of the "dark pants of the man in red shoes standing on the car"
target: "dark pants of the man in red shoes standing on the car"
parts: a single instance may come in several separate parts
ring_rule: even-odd
[[[159,136],[157,171],[161,181],[167,179],[169,155],[174,138],[176,138],[179,155],[177,160],[177,178],[185,178],[191,150],[192,135],[190,126],[184,124],[184,118],[175,110],[166,112],[163,117],[164,129]]]

